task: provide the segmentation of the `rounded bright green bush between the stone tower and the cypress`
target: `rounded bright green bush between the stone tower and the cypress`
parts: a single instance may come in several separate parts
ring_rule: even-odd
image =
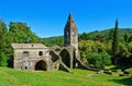
[[[111,57],[107,52],[90,52],[87,54],[89,64],[94,64],[96,67],[103,67],[105,65],[111,64]]]

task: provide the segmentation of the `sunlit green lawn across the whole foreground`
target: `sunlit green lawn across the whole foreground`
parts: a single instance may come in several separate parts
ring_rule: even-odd
[[[132,77],[96,74],[87,70],[29,72],[0,67],[0,86],[132,86]]]

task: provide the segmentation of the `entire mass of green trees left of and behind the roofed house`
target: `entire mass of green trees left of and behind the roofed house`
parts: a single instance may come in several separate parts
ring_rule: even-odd
[[[0,65],[12,66],[13,50],[11,44],[35,44],[41,39],[22,22],[11,22],[9,32],[6,23],[0,20]]]

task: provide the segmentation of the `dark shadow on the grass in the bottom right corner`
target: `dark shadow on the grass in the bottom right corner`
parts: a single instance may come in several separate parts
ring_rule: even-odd
[[[128,77],[128,78],[122,78],[122,79],[110,79],[114,83],[119,83],[121,84],[122,86],[125,85],[125,86],[132,86],[132,77]]]

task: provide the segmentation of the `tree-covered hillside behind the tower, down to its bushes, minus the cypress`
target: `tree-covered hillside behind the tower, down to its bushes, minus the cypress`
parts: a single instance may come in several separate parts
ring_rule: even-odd
[[[119,28],[119,51],[117,53],[118,64],[131,65],[132,57],[132,28]],[[112,64],[114,28],[95,30],[79,34],[79,50],[81,61],[96,67]],[[43,44],[63,47],[63,36],[43,38]]]

